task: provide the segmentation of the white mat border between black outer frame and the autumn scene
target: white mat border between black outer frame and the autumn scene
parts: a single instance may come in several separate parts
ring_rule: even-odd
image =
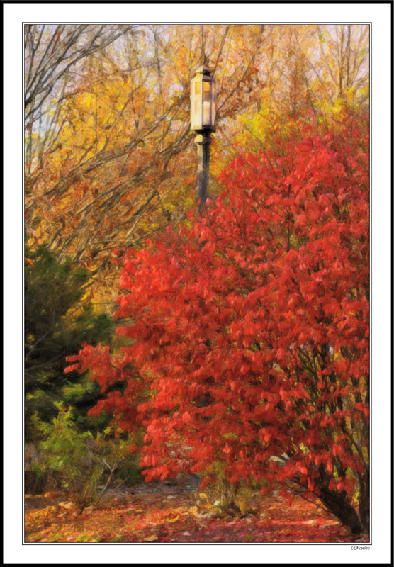
[[[5,564],[390,564],[393,529],[390,520],[393,472],[390,468],[393,409],[390,403],[392,9],[393,5],[389,1],[4,3]],[[368,550],[352,550],[350,544],[116,544],[118,549],[113,549],[111,544],[22,543],[23,22],[371,23],[373,538],[372,543],[368,544]],[[61,552],[54,547],[58,545],[62,545]],[[193,549],[188,549],[188,546],[193,546]]]

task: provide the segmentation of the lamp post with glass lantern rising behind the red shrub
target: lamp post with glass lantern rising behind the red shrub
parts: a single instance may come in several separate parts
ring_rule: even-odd
[[[196,76],[191,79],[190,122],[191,130],[196,133],[197,145],[197,195],[200,212],[207,198],[209,174],[210,133],[215,131],[216,86],[211,77],[212,71],[201,65]]]

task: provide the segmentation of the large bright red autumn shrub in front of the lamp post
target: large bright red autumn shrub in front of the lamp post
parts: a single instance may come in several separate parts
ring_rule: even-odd
[[[191,228],[128,252],[130,346],[77,359],[103,392],[126,383],[93,411],[145,426],[147,480],[219,462],[232,483],[295,481],[368,529],[368,164],[368,117],[298,123],[240,152]]]

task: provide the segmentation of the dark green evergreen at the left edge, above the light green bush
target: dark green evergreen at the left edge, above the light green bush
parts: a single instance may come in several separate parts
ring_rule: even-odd
[[[95,314],[86,298],[91,276],[67,259],[57,262],[45,245],[25,249],[25,420],[28,439],[33,436],[35,412],[50,422],[57,415],[56,400],[76,408],[77,425],[97,429],[101,420],[84,417],[99,397],[99,386],[76,373],[66,378],[66,357],[78,352],[81,342],[111,340],[111,319]]]

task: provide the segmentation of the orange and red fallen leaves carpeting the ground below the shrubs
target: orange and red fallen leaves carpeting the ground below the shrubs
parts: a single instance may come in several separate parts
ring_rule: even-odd
[[[280,495],[257,496],[253,515],[222,517],[196,514],[187,486],[160,483],[133,487],[123,498],[113,497],[99,510],[90,506],[79,512],[74,506],[67,506],[61,495],[57,500],[35,496],[25,504],[26,542],[368,541],[355,537],[334,516],[298,496],[291,507]]]

